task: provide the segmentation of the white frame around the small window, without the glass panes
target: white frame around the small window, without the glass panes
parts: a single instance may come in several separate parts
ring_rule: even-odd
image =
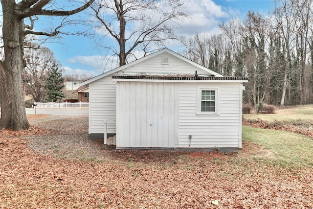
[[[215,111],[201,111],[201,93],[202,91],[215,91]],[[220,114],[220,87],[207,87],[207,86],[197,86],[197,106],[196,114],[197,115],[219,115]]]

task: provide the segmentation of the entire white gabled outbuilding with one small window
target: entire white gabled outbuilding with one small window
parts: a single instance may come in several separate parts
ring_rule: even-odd
[[[245,82],[164,48],[82,83],[90,137],[107,123],[117,149],[240,148]]]

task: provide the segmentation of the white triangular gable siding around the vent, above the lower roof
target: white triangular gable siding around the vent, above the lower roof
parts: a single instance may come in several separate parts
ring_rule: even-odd
[[[162,57],[168,57],[168,65],[162,65]],[[144,62],[138,63],[123,71],[125,72],[137,72],[137,73],[176,73],[176,74],[195,74],[197,70],[198,74],[209,74],[207,71],[201,70],[194,65],[186,62],[182,62],[177,57],[163,53],[158,56],[152,57]]]

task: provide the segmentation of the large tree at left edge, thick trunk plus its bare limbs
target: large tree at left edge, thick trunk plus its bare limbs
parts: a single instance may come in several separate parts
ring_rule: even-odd
[[[94,0],[89,0],[76,9],[49,9],[52,0],[1,0],[3,14],[3,44],[4,61],[0,61],[0,129],[28,129],[26,118],[22,70],[26,65],[24,56],[24,38],[28,34],[55,36],[58,29],[52,33],[35,31],[34,18],[37,16],[68,16],[88,8]],[[31,25],[26,25],[24,19],[29,18]]]

